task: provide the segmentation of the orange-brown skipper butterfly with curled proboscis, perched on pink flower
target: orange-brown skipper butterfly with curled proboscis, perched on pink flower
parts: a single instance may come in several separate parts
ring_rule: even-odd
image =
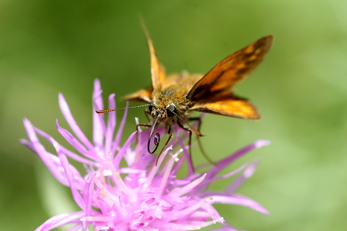
[[[245,79],[262,61],[272,44],[272,35],[260,38],[232,53],[205,75],[189,75],[187,72],[181,72],[167,76],[164,66],[157,58],[148,31],[144,29],[144,32],[150,50],[152,86],[126,95],[122,99],[149,103],[129,108],[148,106],[146,112],[152,117],[153,124],[140,124],[138,126],[152,127],[148,139],[148,151],[150,153],[157,150],[160,141],[160,135],[157,133],[155,136],[156,147],[151,151],[150,140],[157,123],[164,124],[169,134],[162,151],[173,136],[171,125],[174,123],[189,132],[189,144],[192,132],[202,136],[199,128],[195,129],[187,123],[189,120],[198,120],[198,127],[200,127],[200,117],[189,118],[192,111],[249,120],[260,119],[256,107],[249,100],[236,96],[232,88]],[[124,108],[98,110],[96,112],[104,113],[121,109]],[[185,124],[188,127],[184,126]]]

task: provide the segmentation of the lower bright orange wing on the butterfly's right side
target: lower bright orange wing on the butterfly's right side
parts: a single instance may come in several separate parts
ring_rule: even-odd
[[[216,102],[197,103],[190,110],[249,120],[260,119],[260,114],[251,102],[235,96]]]

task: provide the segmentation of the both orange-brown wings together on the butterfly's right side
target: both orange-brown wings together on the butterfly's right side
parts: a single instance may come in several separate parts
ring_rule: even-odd
[[[262,61],[273,36],[265,36],[236,51],[213,67],[188,92],[191,110],[257,120],[260,114],[246,99],[233,95],[232,86],[243,80]]]

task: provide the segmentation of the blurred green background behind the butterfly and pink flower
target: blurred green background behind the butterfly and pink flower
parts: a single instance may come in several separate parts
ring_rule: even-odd
[[[215,159],[256,139],[270,139],[230,166],[261,163],[240,193],[270,211],[217,206],[234,227],[250,231],[347,230],[347,2],[342,0],[0,0],[0,226],[33,230],[76,209],[41,160],[19,143],[22,119],[59,141],[67,128],[58,92],[91,138],[91,93],[104,99],[150,85],[149,52],[137,15],[167,71],[206,73],[256,39],[273,34],[264,62],[236,93],[249,97],[260,122],[207,115],[205,149]],[[132,105],[137,105],[133,103]],[[122,115],[118,113],[118,115]],[[124,139],[134,130],[129,111]],[[206,162],[194,149],[195,163]],[[222,188],[225,183],[216,184]]]

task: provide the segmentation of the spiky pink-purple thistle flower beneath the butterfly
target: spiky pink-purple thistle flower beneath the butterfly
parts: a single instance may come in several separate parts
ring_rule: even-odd
[[[59,126],[58,132],[79,154],[61,146],[54,138],[34,127],[24,119],[29,140],[21,142],[34,151],[48,167],[49,171],[63,185],[69,186],[80,211],[59,214],[43,223],[37,231],[46,231],[72,224],[70,230],[198,230],[214,223],[221,223],[223,230],[235,230],[224,222],[223,217],[212,204],[237,204],[250,207],[268,214],[268,211],[250,198],[236,194],[235,191],[249,178],[258,162],[245,163],[233,172],[217,176],[221,170],[248,151],[269,144],[259,140],[230,156],[204,174],[193,172],[187,147],[183,145],[186,133],[177,128],[177,135],[162,153],[155,165],[156,156],[147,151],[149,131],[132,133],[123,145],[120,145],[127,111],[115,134],[116,113],[108,115],[107,122],[103,114],[94,109],[103,109],[100,81],[94,83],[93,92],[93,142],[77,126],[62,94],[59,94],[59,106],[73,136]],[[109,96],[109,108],[115,108],[115,94]],[[164,133],[164,129],[161,133]],[[178,136],[182,133],[183,136]],[[48,152],[40,143],[39,137],[47,139],[56,149],[57,155]],[[143,138],[143,139],[142,139]],[[133,147],[130,145],[133,144]],[[178,151],[173,151],[178,149]],[[69,158],[85,166],[86,173],[80,173],[69,163]],[[120,167],[124,159],[127,166]],[[188,163],[188,173],[183,179],[177,179],[176,173],[184,162]],[[199,167],[198,167],[199,168]],[[197,168],[197,169],[198,169]],[[215,181],[229,178],[240,173],[224,191],[210,191],[208,186]]]

